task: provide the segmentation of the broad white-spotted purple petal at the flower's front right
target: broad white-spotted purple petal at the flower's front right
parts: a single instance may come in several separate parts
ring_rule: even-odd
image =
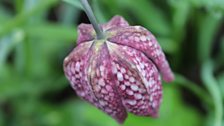
[[[154,64],[143,53],[128,46],[112,43],[108,46],[126,109],[136,115],[156,117],[162,86]]]

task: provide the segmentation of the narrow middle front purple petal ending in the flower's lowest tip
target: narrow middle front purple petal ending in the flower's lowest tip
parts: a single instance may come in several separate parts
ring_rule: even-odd
[[[96,43],[97,44],[97,43]],[[127,117],[115,85],[115,76],[111,70],[111,59],[107,45],[104,43],[99,48],[94,45],[96,54],[92,56],[89,67],[89,75],[93,92],[99,103],[99,108],[123,123]]]

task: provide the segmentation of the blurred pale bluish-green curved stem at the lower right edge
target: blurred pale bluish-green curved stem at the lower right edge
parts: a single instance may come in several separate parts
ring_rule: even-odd
[[[218,83],[213,76],[214,64],[211,60],[208,60],[202,65],[202,81],[204,82],[207,90],[210,92],[214,107],[215,107],[215,120],[214,126],[222,126],[223,118],[223,103],[221,97],[221,91],[218,87]]]

